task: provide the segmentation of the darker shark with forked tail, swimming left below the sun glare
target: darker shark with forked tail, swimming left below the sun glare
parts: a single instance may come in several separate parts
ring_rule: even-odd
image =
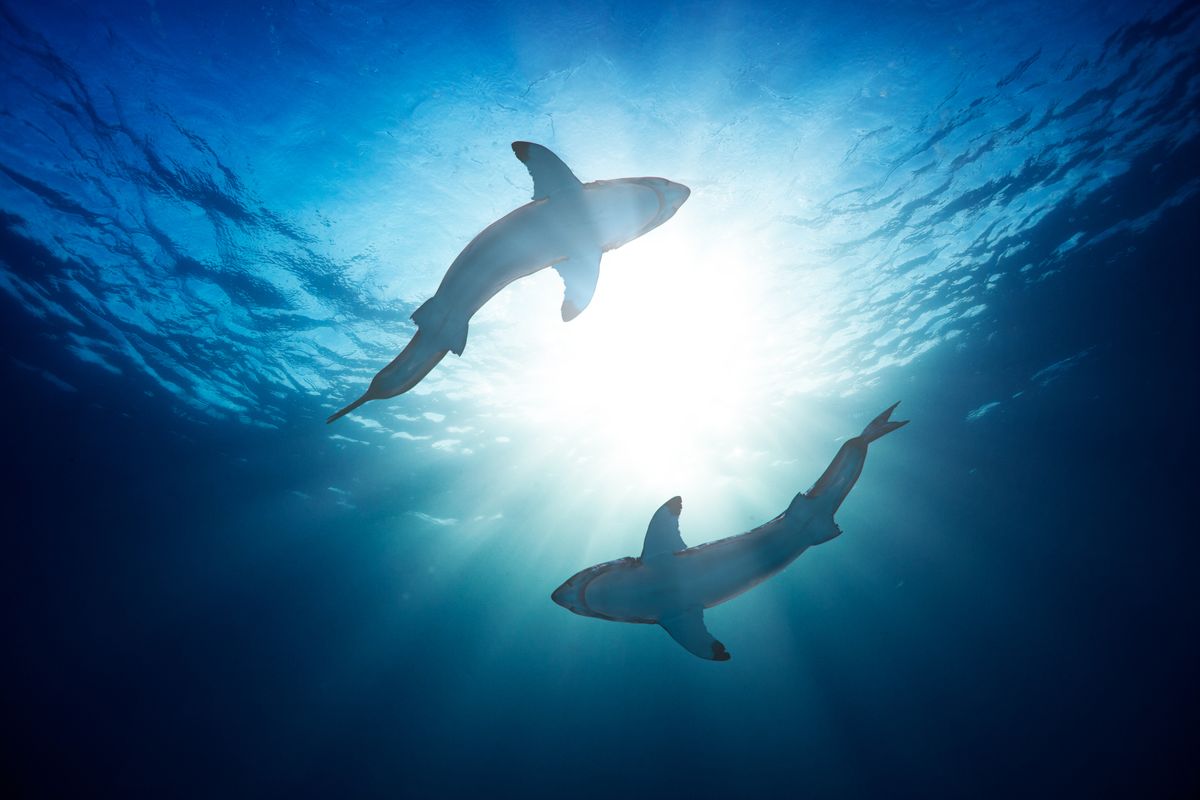
[[[641,557],[581,570],[551,599],[582,616],[659,625],[688,652],[728,661],[730,651],[704,625],[704,609],[757,587],[808,548],[841,535],[833,516],[863,473],[868,445],[908,423],[890,420],[896,405],[847,439],[812,488],[797,494],[770,522],[688,547],[679,534],[683,499],[671,498],[650,517]]]

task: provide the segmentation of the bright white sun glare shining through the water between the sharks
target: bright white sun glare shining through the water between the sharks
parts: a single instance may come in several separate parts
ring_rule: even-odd
[[[601,470],[695,475],[772,399],[756,391],[767,300],[746,242],[696,227],[607,253],[588,309],[539,325],[526,410]],[[541,289],[562,293],[557,277]]]

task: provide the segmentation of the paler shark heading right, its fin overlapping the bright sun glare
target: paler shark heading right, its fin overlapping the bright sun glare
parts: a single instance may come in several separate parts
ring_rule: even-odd
[[[485,228],[446,270],[438,290],[413,312],[416,333],[356,401],[396,397],[419,384],[446,353],[462,355],[476,311],[518,278],[553,267],[563,278],[563,321],[580,315],[595,293],[604,253],[654,230],[691,194],[665,178],[620,178],[583,184],[547,148],[514,142],[533,179],[533,200]]]

